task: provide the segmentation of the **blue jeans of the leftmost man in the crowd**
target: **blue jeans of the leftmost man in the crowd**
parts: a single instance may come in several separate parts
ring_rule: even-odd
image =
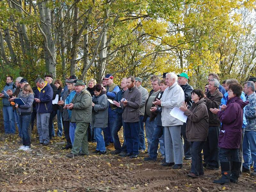
[[[5,134],[15,134],[15,117],[12,106],[3,106],[3,116],[4,116],[4,132]]]

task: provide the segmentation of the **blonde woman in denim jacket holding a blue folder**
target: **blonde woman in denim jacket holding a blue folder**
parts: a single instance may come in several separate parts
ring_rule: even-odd
[[[16,104],[15,107],[18,108],[20,115],[20,129],[22,135],[22,146],[20,150],[30,150],[30,136],[28,130],[30,129],[31,122],[31,112],[32,104],[34,101],[34,92],[29,84],[25,84],[20,92],[18,98],[22,99],[25,103],[24,105]]]

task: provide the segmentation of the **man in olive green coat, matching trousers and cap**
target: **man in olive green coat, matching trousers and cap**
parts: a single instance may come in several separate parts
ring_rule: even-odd
[[[87,128],[92,122],[92,96],[86,90],[84,81],[77,80],[75,84],[76,95],[71,103],[66,105],[72,109],[71,122],[76,123],[75,140],[71,153],[67,157],[89,155]],[[81,152],[80,151],[81,148]]]

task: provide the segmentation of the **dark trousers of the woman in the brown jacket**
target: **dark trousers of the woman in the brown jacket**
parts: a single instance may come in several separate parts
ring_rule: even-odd
[[[204,175],[202,149],[205,141],[191,141],[191,173],[195,175]]]

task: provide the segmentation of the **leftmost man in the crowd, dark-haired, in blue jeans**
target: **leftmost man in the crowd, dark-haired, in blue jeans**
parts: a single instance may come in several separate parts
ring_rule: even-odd
[[[6,85],[4,86],[4,90],[0,93],[0,98],[3,98],[3,115],[4,115],[4,132],[5,134],[15,134],[16,127],[15,127],[15,117],[13,108],[8,101],[10,98],[9,95],[6,93],[7,90],[11,90],[15,92],[16,87],[13,84],[12,76],[6,77]],[[5,92],[4,92],[5,91]]]

